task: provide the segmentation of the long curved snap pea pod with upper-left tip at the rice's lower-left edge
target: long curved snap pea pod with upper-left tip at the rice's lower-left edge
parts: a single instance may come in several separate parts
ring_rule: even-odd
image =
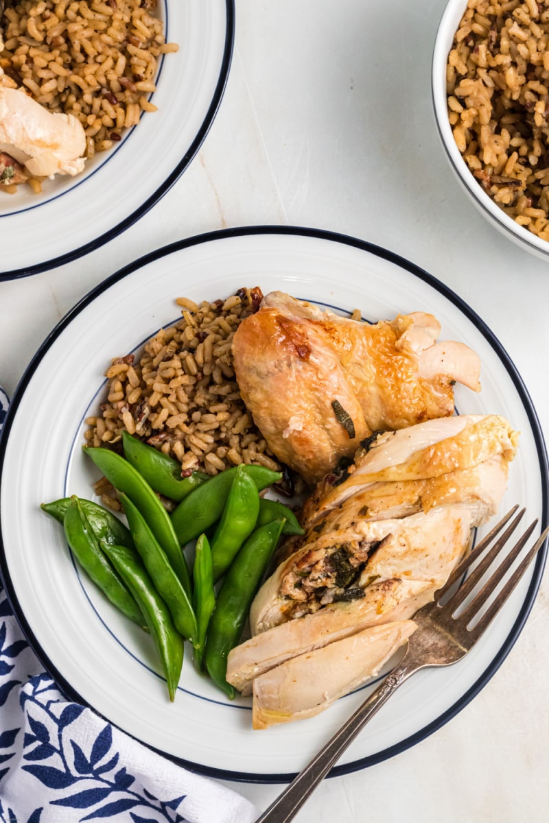
[[[170,515],[152,491],[151,486],[137,472],[137,469],[131,463],[128,463],[128,460],[120,457],[111,449],[84,446],[84,451],[107,480],[113,484],[114,488],[127,495],[129,500],[137,506],[137,509],[147,521],[151,532],[168,556],[185,591],[190,594],[191,579],[188,574],[187,561],[183,551],[181,551]]]

